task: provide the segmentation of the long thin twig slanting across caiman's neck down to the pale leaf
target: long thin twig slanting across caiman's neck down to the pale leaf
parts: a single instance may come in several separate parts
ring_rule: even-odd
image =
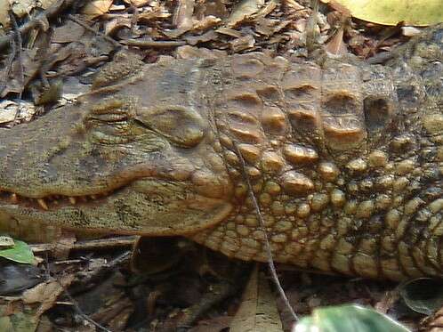
[[[270,250],[270,240],[268,238],[268,233],[267,233],[266,228],[264,226],[262,211],[260,210],[260,206],[257,203],[257,198],[255,198],[253,186],[251,184],[251,181],[249,180],[249,176],[246,173],[245,159],[243,159],[242,154],[238,150],[237,144],[234,143],[234,146],[235,146],[235,148],[237,150],[238,158],[240,159],[241,171],[242,171],[243,177],[245,178],[245,181],[246,181],[246,184],[247,184],[247,189],[248,189],[248,192],[249,192],[249,196],[253,200],[253,205],[254,205],[255,213],[257,214],[257,217],[258,217],[258,220],[259,220],[260,228],[262,228],[262,231],[264,233],[264,247],[265,247],[265,250],[266,250],[266,256],[268,258],[268,267],[270,269],[270,274],[272,276],[272,280],[274,281],[274,284],[276,285],[276,287],[278,289],[278,293],[280,294],[281,298],[285,302],[287,309],[289,310],[289,312],[291,312],[291,315],[293,316],[293,319],[295,321],[297,321],[298,320],[298,316],[294,312],[294,309],[291,306],[291,304],[289,303],[289,300],[287,299],[285,290],[283,290],[283,287],[281,287],[280,281],[278,280],[278,275],[277,275],[276,267],[275,267],[275,264],[274,264],[274,259],[272,258],[272,251]]]

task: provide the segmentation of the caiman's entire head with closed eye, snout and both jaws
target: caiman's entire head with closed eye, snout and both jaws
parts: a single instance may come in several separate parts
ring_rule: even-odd
[[[178,235],[230,213],[195,61],[117,54],[91,93],[0,130],[0,219]]]

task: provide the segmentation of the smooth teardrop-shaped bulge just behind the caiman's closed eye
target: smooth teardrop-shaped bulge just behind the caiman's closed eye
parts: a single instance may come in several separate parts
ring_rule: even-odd
[[[205,136],[204,119],[196,110],[182,106],[141,109],[136,119],[185,148],[196,146]]]

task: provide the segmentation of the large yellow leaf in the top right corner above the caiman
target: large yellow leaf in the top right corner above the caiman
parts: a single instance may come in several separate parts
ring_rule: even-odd
[[[338,3],[353,17],[370,22],[397,25],[428,26],[443,22],[443,0],[322,0]]]

